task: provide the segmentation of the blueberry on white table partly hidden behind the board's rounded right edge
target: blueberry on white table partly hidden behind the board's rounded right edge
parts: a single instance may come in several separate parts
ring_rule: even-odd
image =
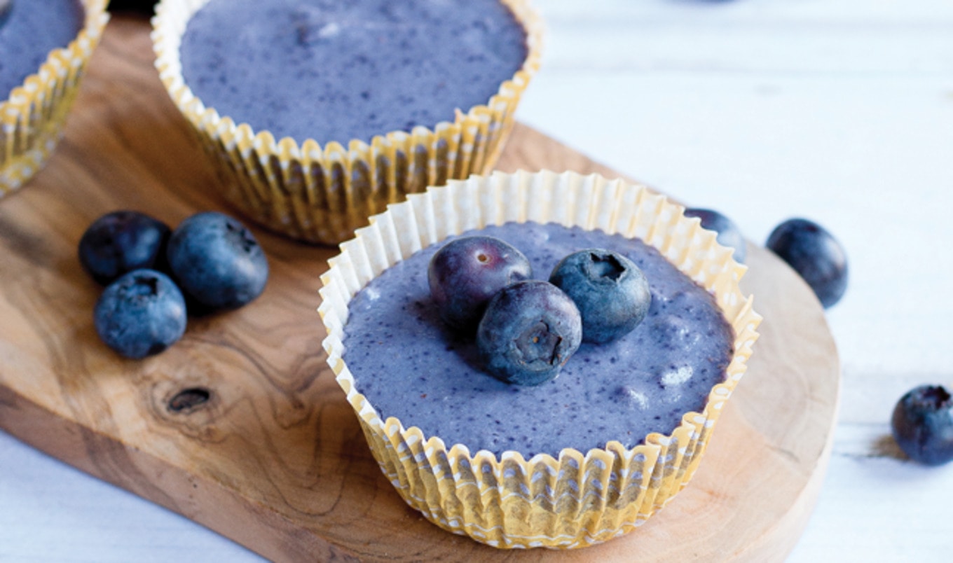
[[[801,275],[824,309],[841,300],[847,290],[847,254],[820,225],[788,219],[775,227],[765,246]]]

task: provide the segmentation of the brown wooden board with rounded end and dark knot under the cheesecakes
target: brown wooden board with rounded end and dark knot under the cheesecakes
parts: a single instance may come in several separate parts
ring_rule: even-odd
[[[272,278],[252,305],[193,319],[181,342],[144,361],[103,346],[91,313],[100,288],[75,258],[91,221],[117,209],[173,226],[194,211],[232,212],[159,83],[148,33],[143,20],[112,20],[48,167],[0,200],[0,428],[280,561],[789,552],[821,488],[840,366],[813,294],[754,245],[742,286],[756,295],[762,335],[699,473],[635,533],[576,552],[500,552],[400,500],[325,365],[315,309],[334,249],[256,230]],[[499,168],[617,175],[524,126]]]

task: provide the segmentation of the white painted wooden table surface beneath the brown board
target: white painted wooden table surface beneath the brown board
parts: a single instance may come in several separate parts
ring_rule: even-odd
[[[833,457],[791,561],[953,560],[953,464],[889,439],[897,399],[953,385],[953,3],[537,0],[523,122],[762,243],[804,216],[848,251],[828,322]],[[0,561],[253,561],[228,539],[0,432]]]

